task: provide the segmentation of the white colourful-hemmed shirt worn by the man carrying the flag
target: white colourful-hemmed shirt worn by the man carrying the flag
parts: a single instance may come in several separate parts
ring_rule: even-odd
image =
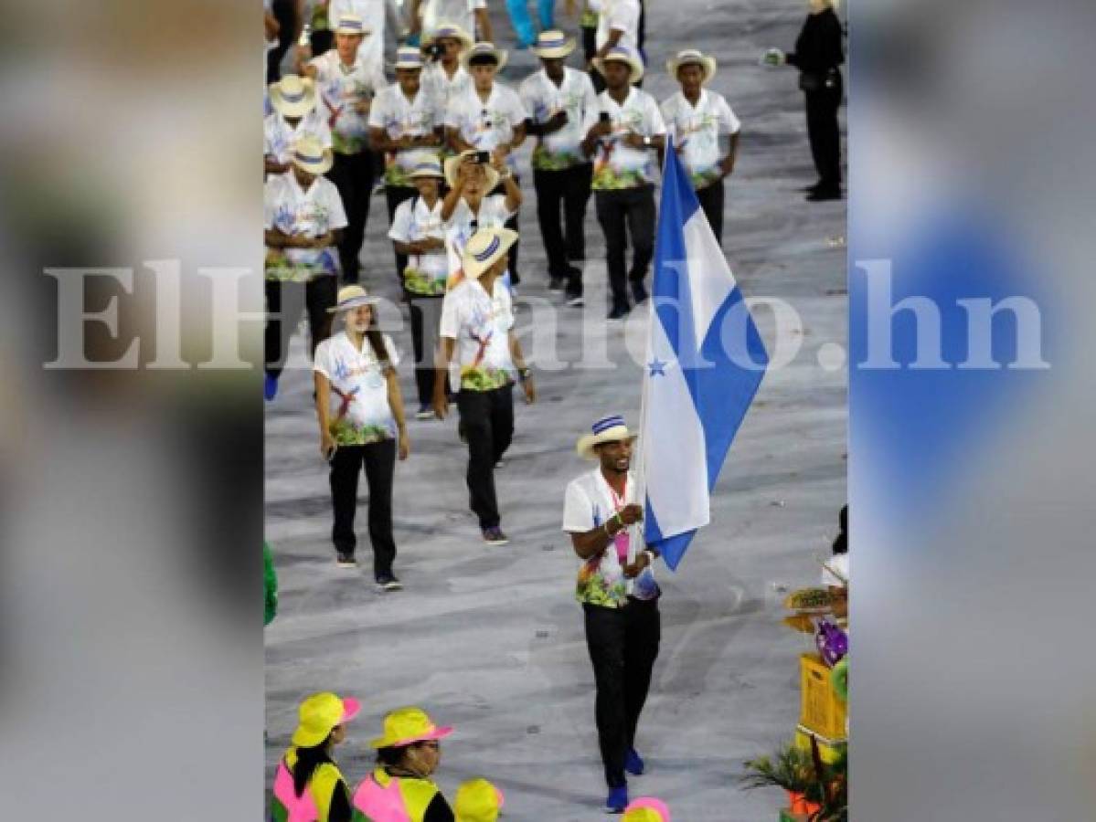
[[[595,468],[568,484],[563,498],[563,531],[569,534],[593,531],[626,505],[636,501],[636,483],[631,474],[625,482],[624,497],[617,497],[602,470]],[[636,561],[643,551],[640,540],[632,539],[629,531],[624,529],[617,532],[605,551],[582,564],[574,592],[579,602],[624,607],[628,604],[628,597],[637,600],[658,598],[659,586],[650,566],[633,580],[624,576],[624,567]]]

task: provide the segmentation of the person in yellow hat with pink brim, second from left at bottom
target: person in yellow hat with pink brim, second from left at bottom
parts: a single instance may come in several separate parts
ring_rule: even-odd
[[[453,733],[422,708],[385,717],[385,733],[369,743],[377,767],[354,791],[355,819],[370,822],[454,822],[453,810],[431,780],[442,759],[438,742]]]

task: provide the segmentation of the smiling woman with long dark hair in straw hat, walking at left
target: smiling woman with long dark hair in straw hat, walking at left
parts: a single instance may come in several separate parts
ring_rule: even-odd
[[[399,357],[392,340],[376,327],[374,306],[361,286],[346,286],[331,311],[344,314],[345,328],[316,348],[312,372],[316,414],[320,424],[320,453],[331,465],[331,541],[341,568],[357,565],[354,514],[357,481],[365,467],[369,484],[369,542],[373,572],[381,591],[400,590],[392,572],[392,481],[396,456],[410,450],[403,418],[403,396],[396,379]]]

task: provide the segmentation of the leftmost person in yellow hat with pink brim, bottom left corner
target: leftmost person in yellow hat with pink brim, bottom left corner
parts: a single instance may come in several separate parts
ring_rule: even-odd
[[[357,716],[357,699],[312,694],[300,704],[293,745],[278,763],[271,799],[273,822],[350,822],[350,790],[332,750],[346,738],[345,723]]]

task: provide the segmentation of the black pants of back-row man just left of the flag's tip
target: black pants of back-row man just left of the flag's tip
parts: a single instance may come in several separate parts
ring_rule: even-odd
[[[613,308],[627,309],[628,280],[642,282],[654,256],[654,186],[597,192],[597,222],[605,232],[605,266]],[[628,234],[631,268],[627,268]]]

